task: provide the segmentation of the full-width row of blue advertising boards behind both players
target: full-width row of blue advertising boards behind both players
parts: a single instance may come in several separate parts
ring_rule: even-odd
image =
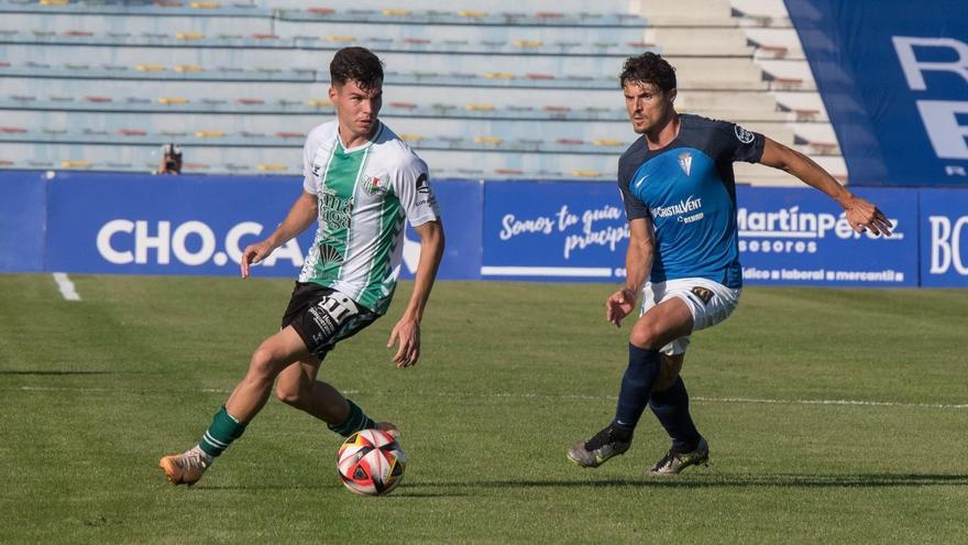
[[[628,225],[614,184],[433,183],[447,250],[438,277],[622,282]],[[0,272],[239,274],[241,250],[285,217],[296,177],[0,173]],[[806,187],[737,187],[747,284],[968,286],[968,190],[855,188],[895,224],[854,232]],[[294,277],[312,229],[256,276]],[[403,277],[419,237],[407,231]]]

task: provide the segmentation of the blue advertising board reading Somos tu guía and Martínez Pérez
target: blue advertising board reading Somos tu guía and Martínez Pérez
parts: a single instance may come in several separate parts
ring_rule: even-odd
[[[917,192],[858,193],[887,211],[897,226],[891,237],[855,232],[843,209],[813,189],[737,187],[744,282],[916,286]],[[629,233],[612,184],[487,184],[483,235],[483,277],[625,277]]]

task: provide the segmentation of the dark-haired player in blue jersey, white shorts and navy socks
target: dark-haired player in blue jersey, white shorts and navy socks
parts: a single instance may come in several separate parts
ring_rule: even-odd
[[[628,276],[605,302],[605,317],[618,327],[639,293],[644,301],[629,335],[615,419],[572,446],[568,457],[594,468],[625,453],[648,405],[672,439],[652,472],[675,475],[710,457],[679,377],[690,334],[726,319],[743,288],[733,163],[760,163],[796,176],[844,207],[858,232],[890,236],[892,226],[805,155],[730,122],[678,113],[675,72],[661,56],[629,57],[619,81],[641,137],[618,161],[630,230]]]

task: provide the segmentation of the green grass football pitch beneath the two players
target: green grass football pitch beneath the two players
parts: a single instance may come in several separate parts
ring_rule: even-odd
[[[439,282],[422,357],[387,317],[320,377],[396,423],[384,498],[338,482],[340,438],[272,399],[193,488],[194,445],[277,327],[284,280],[0,275],[2,543],[966,543],[968,291],[748,287],[683,378],[711,466],[648,475],[646,413],[598,469],[565,458],[614,414],[629,324],[614,285]]]

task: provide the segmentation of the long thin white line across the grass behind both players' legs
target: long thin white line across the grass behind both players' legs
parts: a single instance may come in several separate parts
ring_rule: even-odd
[[[20,390],[22,392],[116,392],[122,389],[109,388],[61,388],[61,386],[0,386],[0,390]],[[199,393],[232,393],[230,389],[221,388],[201,388],[196,390]],[[364,392],[361,390],[342,390],[344,394],[352,395],[380,395],[381,392]],[[590,401],[615,401],[615,395],[587,395],[587,394],[537,394],[537,393],[473,393],[473,392],[394,392],[393,395],[417,395],[422,397],[479,397],[479,399],[551,399],[551,400],[590,400]],[[859,400],[763,400],[755,397],[692,397],[692,401],[703,403],[752,403],[769,405],[834,405],[834,406],[869,406],[869,407],[900,407],[900,408],[952,408],[966,410],[968,403],[945,404],[945,403],[900,403],[894,401],[859,401]]]

